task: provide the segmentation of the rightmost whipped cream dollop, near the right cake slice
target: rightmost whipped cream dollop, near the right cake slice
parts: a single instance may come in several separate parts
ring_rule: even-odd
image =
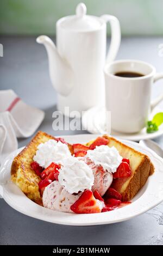
[[[122,162],[122,156],[115,147],[109,148],[107,145],[101,145],[94,150],[87,150],[85,157],[89,157],[97,166],[101,165],[104,170],[115,173],[117,167]]]

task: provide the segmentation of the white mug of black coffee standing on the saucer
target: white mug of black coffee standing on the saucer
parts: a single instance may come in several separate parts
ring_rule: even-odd
[[[139,77],[120,77],[118,72],[135,72]],[[111,111],[111,129],[139,132],[145,127],[151,110],[163,100],[163,94],[151,102],[152,84],[163,78],[154,66],[140,60],[117,60],[105,66],[106,110]]]

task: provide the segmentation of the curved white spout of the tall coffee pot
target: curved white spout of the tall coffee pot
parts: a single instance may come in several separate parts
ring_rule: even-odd
[[[63,59],[54,42],[46,35],[37,37],[36,42],[43,44],[47,50],[49,60],[49,74],[52,84],[59,94],[67,96],[73,89],[73,71]]]

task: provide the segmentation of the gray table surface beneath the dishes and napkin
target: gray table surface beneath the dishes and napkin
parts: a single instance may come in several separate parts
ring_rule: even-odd
[[[39,130],[52,135],[71,135],[80,131],[52,129],[52,113],[57,96],[48,75],[47,54],[36,44],[36,37],[5,37],[0,43],[4,57],[0,57],[0,89],[13,89],[30,105],[45,111]],[[145,60],[163,71],[163,57],[159,57],[162,38],[123,38],[117,59]],[[153,97],[162,92],[161,83],[153,86]],[[160,105],[163,108],[163,105]],[[85,132],[86,133],[86,132]],[[19,147],[31,138],[19,139]],[[156,138],[163,147],[163,136]],[[20,214],[0,199],[0,244],[2,245],[162,245],[163,204],[121,223],[92,227],[71,227],[51,224]]]

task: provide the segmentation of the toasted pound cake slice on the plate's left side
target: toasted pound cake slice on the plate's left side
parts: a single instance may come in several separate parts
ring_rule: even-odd
[[[38,186],[40,177],[32,170],[30,163],[33,162],[37,146],[49,139],[55,138],[45,132],[37,132],[26,148],[14,158],[11,166],[11,180],[21,188],[28,198],[39,204],[42,202]]]

